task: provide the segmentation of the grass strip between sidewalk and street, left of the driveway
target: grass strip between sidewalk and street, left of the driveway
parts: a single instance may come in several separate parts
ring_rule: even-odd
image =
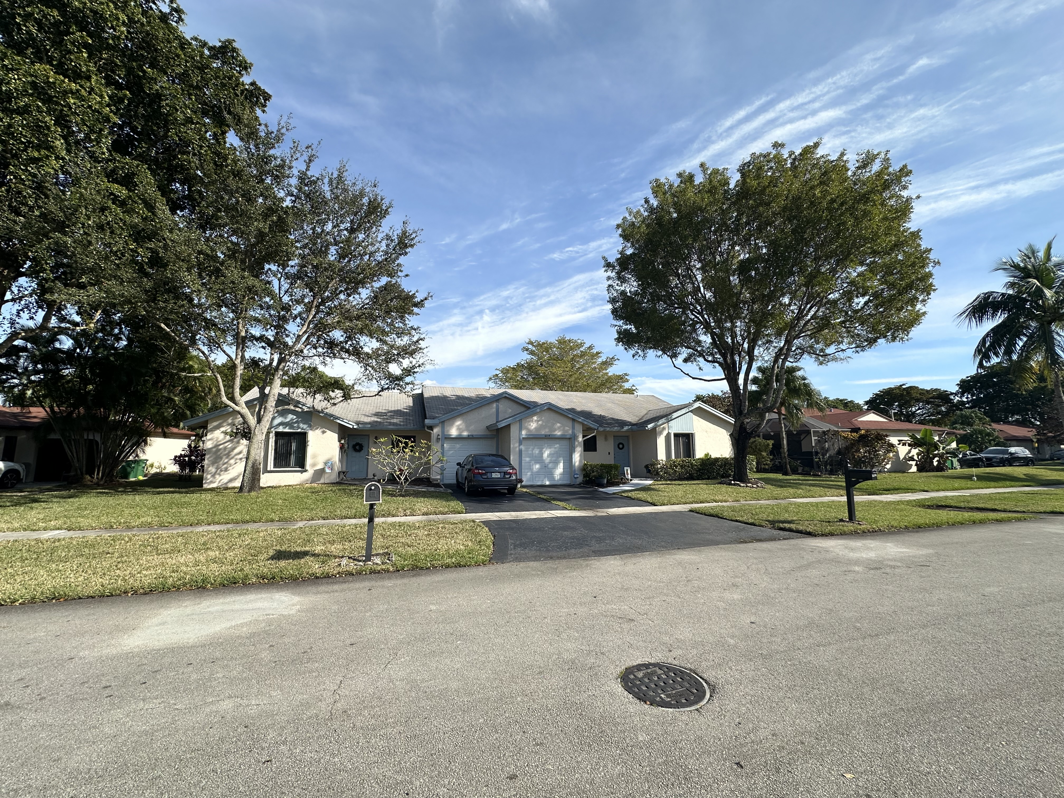
[[[373,551],[395,563],[343,563],[365,547],[353,525],[0,541],[0,604],[483,565],[492,533],[477,521],[382,522]]]

